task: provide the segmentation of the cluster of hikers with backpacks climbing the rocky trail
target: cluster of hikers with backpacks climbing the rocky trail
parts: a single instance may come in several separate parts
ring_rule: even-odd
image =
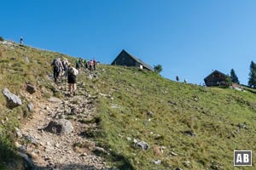
[[[55,79],[55,83],[57,82],[59,77],[61,79],[62,77],[67,77],[69,93],[71,95],[75,95],[77,89],[77,76],[81,71],[81,68],[89,69],[90,71],[95,71],[96,59],[90,59],[90,61],[87,62],[86,59],[79,58],[76,60],[76,68],[74,68],[66,58],[55,58],[52,61],[51,66],[53,67],[53,76]]]

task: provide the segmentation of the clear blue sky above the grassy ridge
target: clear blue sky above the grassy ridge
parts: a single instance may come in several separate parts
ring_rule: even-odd
[[[163,77],[201,83],[256,61],[253,0],[3,0],[0,36],[110,64],[122,49]]]

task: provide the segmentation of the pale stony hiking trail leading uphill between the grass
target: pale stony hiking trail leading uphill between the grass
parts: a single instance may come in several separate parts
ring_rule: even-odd
[[[108,169],[101,157],[92,150],[103,150],[86,138],[84,132],[96,127],[90,121],[96,114],[95,100],[78,86],[78,93],[67,93],[67,82],[56,87],[64,99],[50,98],[42,101],[37,94],[23,94],[32,99],[32,117],[21,127],[16,143],[21,153],[32,157],[36,169]],[[64,123],[56,124],[60,122]],[[49,125],[49,123],[52,123]]]

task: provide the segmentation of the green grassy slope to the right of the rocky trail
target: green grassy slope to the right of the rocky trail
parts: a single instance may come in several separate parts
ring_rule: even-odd
[[[255,94],[172,82],[137,69],[99,70],[94,88],[107,95],[99,99],[99,136],[112,159],[122,160],[116,164],[121,169],[233,169],[233,150],[256,149]],[[133,139],[150,150],[138,149]]]

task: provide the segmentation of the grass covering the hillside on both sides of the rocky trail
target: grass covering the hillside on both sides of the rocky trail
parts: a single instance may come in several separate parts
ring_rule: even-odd
[[[26,103],[29,99],[21,94],[30,82],[42,94],[38,98],[61,98],[49,78],[49,64],[59,56],[73,60],[63,54],[0,43],[1,91],[9,88]],[[111,65],[99,65],[93,74],[93,78],[88,73],[78,78],[80,89],[95,96],[98,112],[94,119],[98,127],[84,133],[108,150],[102,156],[119,169],[236,169],[233,150],[256,150],[253,90],[200,87]],[[1,169],[14,161],[15,153],[8,148],[15,148],[14,127],[26,118],[27,108],[7,109],[1,93],[0,110],[4,122],[0,123]],[[135,139],[145,141],[150,149],[137,148]],[[160,165],[154,163],[158,160]]]

